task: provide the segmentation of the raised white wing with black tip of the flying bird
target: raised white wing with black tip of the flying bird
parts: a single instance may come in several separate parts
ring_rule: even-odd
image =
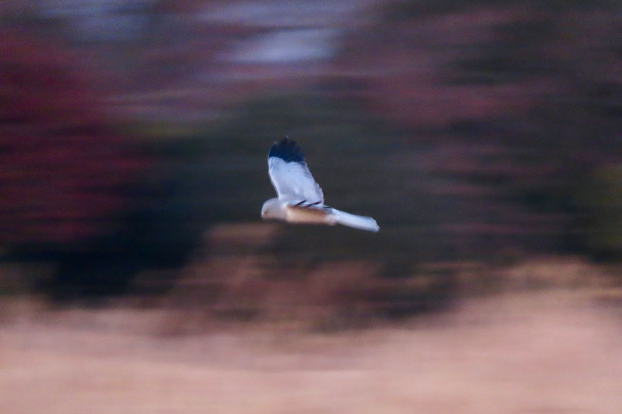
[[[285,137],[272,145],[268,153],[268,173],[279,199],[296,200],[301,206],[324,204],[322,189],[313,179],[304,154],[294,140]]]

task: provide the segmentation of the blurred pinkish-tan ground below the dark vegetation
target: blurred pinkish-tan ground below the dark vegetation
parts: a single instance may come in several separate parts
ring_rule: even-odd
[[[150,331],[155,311],[18,301],[0,326],[0,413],[619,414],[622,312],[603,297],[618,296],[553,289],[399,327],[177,337]]]

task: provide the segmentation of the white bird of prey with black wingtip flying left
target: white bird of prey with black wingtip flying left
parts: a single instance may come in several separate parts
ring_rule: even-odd
[[[261,218],[288,223],[343,224],[378,232],[378,224],[373,218],[324,205],[322,189],[313,179],[294,140],[285,137],[280,143],[272,145],[268,153],[268,173],[278,197],[264,202]]]

